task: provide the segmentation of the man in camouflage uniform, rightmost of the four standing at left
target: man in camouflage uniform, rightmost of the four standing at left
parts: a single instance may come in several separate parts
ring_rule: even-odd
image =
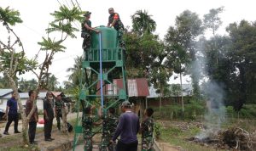
[[[61,99],[61,94],[56,97],[55,101],[55,117],[57,120],[58,130],[61,130],[62,112],[61,109],[65,107],[64,102]]]

